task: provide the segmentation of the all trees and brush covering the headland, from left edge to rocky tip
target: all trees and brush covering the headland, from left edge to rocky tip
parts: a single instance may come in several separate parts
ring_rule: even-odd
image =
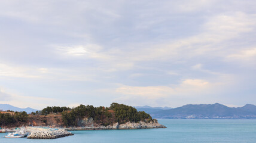
[[[62,120],[59,116],[44,116],[47,114],[61,113]],[[42,116],[39,116],[41,114]],[[46,107],[41,111],[32,112],[28,115],[25,111],[23,112],[10,112],[0,113],[0,126],[20,126],[34,122],[34,120],[40,120],[42,123],[47,125],[51,123],[52,119],[56,120],[57,123],[63,123],[64,126],[84,126],[96,123],[97,125],[108,126],[116,122],[151,122],[153,121],[150,114],[144,111],[137,111],[133,108],[124,104],[112,103],[109,108],[103,106],[93,107],[93,105],[79,105],[75,108],[68,107]],[[93,120],[92,120],[93,119]],[[39,123],[40,124],[40,123]]]

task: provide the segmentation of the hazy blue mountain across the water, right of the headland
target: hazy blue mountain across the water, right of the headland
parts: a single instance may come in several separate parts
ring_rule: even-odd
[[[188,104],[169,110],[150,112],[156,119],[256,119],[256,106],[227,107],[222,104]]]

